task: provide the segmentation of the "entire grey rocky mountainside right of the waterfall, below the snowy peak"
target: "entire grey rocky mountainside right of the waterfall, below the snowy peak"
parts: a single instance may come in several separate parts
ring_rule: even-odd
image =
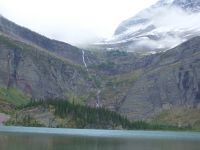
[[[101,93],[108,108],[131,120],[147,120],[176,107],[199,112],[200,37],[151,55],[107,53],[109,65],[96,72],[109,75]]]

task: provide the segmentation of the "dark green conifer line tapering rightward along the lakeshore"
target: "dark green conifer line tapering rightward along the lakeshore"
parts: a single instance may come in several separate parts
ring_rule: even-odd
[[[29,104],[21,107],[49,107],[53,106],[54,115],[61,118],[71,116],[76,128],[96,129],[127,129],[127,130],[185,130],[187,127],[171,125],[150,124],[144,121],[130,121],[120,114],[106,108],[93,108],[90,106],[70,103],[66,100],[47,99],[32,100]],[[21,109],[20,108],[20,109]]]

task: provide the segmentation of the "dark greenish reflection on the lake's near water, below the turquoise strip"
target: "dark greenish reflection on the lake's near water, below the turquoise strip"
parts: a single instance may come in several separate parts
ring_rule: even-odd
[[[106,134],[106,131],[104,132]],[[112,138],[0,131],[0,150],[200,150],[200,139],[158,139],[154,136]]]

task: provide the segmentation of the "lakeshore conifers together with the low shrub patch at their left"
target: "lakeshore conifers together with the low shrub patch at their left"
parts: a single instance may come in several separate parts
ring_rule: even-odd
[[[189,130],[190,127],[177,127],[171,125],[149,124],[144,121],[131,122],[116,112],[105,108],[91,108],[80,104],[70,103],[64,100],[31,101],[18,109],[33,109],[37,107],[48,108],[53,111],[55,118],[61,124],[56,127],[69,127],[63,123],[73,122],[72,128],[96,128],[96,129],[128,129],[128,130]],[[9,120],[6,125],[42,126],[33,117],[22,115],[18,119]],[[70,118],[70,119],[69,119]],[[68,122],[63,120],[68,119]],[[69,121],[70,120],[70,121]],[[51,125],[49,125],[51,127]]]

